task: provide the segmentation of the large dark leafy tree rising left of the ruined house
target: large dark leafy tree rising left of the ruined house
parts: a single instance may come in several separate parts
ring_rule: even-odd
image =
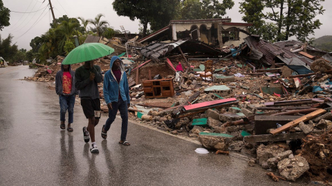
[[[132,21],[140,20],[143,25],[142,34],[145,37],[148,23],[154,31],[165,27],[177,16],[180,3],[180,0],[115,0],[112,5],[119,16],[129,17]]]

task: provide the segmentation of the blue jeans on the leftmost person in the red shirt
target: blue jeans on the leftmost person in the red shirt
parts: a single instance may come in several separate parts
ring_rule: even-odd
[[[73,123],[75,94],[72,96],[59,96],[60,103],[60,121],[66,121],[66,112],[68,110],[68,123]]]

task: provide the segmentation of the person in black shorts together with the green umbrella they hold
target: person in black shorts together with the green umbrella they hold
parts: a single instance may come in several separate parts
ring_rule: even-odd
[[[80,90],[78,95],[81,98],[83,112],[89,119],[88,127],[83,127],[83,136],[85,143],[88,143],[91,137],[91,153],[99,153],[97,145],[95,145],[95,125],[99,123],[101,114],[98,83],[102,82],[100,67],[93,65],[93,60],[112,52],[114,52],[113,48],[102,43],[84,43],[71,50],[62,61],[63,65],[84,62],[84,65],[76,69],[75,87]]]

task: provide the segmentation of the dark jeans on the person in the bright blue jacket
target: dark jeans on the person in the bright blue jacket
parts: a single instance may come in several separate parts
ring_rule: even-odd
[[[112,102],[112,110],[109,110],[109,118],[105,123],[104,130],[107,132],[111,127],[111,124],[116,119],[116,113],[120,111],[120,116],[122,118],[121,125],[121,141],[125,141],[127,138],[127,130],[128,130],[128,105],[127,101],[123,101],[119,99],[118,102]]]

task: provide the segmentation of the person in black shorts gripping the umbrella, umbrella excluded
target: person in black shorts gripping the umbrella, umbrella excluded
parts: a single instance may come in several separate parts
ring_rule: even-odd
[[[85,143],[88,143],[91,136],[91,153],[99,153],[95,145],[95,125],[100,119],[100,97],[98,83],[102,82],[102,73],[98,65],[93,65],[94,61],[86,61],[84,65],[76,69],[75,87],[80,90],[81,105],[84,115],[89,119],[88,127],[83,127]]]

